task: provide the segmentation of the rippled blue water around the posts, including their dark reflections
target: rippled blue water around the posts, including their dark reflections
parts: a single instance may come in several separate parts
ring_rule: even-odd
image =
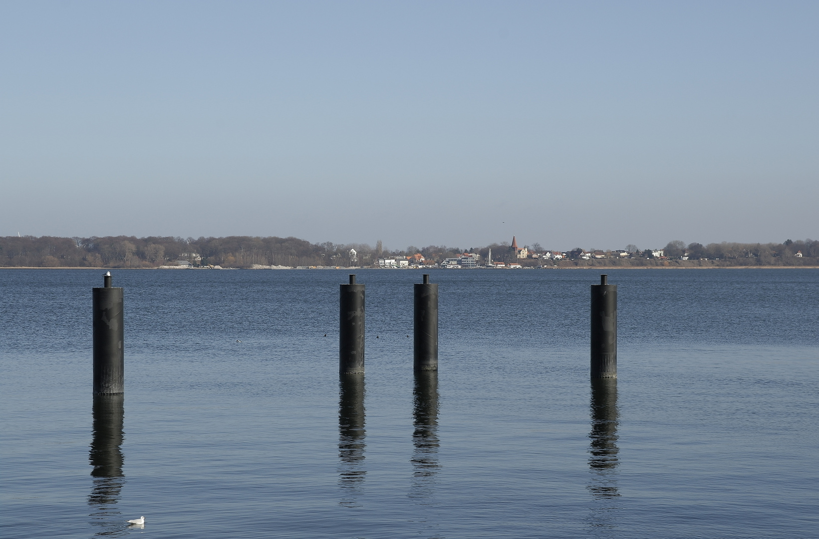
[[[361,270],[341,381],[345,273],[113,273],[125,395],[95,401],[101,272],[0,271],[2,537],[819,537],[819,270],[609,270],[594,386],[588,270],[433,272],[419,378],[419,272]]]

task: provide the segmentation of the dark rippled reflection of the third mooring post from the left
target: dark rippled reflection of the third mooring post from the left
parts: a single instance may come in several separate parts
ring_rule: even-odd
[[[437,371],[419,371],[415,373],[413,392],[413,425],[415,427],[412,442],[414,446],[413,495],[429,496],[432,494],[434,478],[441,468],[438,463],[438,373]]]

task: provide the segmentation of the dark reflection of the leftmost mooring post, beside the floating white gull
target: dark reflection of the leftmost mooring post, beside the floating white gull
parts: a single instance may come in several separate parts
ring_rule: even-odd
[[[91,523],[101,527],[97,535],[111,535],[122,530],[121,513],[116,510],[124,484],[120,446],[124,438],[124,396],[95,395],[93,401],[91,451],[88,460],[93,469],[93,487],[88,495]]]

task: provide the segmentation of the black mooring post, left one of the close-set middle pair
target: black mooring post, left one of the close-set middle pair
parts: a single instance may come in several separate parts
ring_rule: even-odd
[[[364,372],[364,285],[342,284],[339,297],[338,372],[353,374]]]

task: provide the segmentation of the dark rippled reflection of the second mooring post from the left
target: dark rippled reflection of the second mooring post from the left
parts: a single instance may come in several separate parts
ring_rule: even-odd
[[[338,398],[338,484],[346,497],[341,505],[355,505],[353,496],[364,482],[364,374],[342,374]]]

